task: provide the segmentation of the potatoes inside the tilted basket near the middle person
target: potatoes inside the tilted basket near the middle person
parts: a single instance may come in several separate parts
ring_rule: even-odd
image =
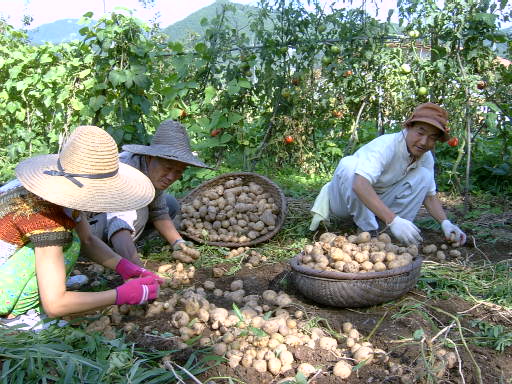
[[[279,207],[270,193],[232,178],[181,206],[181,228],[209,241],[247,243],[275,229]]]

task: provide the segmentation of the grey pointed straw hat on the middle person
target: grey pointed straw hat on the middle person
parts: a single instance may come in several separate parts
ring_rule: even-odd
[[[199,168],[209,168],[190,150],[190,142],[185,127],[173,120],[166,120],[155,132],[150,145],[123,145],[123,150],[139,155],[175,160]]]

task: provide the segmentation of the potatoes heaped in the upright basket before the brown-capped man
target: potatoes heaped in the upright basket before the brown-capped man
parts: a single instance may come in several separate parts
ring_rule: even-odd
[[[322,271],[382,272],[404,267],[417,255],[416,245],[399,247],[386,233],[372,238],[368,232],[348,237],[326,232],[304,247],[299,263]]]

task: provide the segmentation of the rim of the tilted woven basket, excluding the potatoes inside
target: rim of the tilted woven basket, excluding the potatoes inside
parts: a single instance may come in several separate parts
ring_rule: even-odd
[[[225,242],[225,241],[208,241],[204,238],[194,236],[183,229],[179,229],[179,232],[183,235],[192,239],[198,243],[215,245],[219,247],[228,247],[228,248],[236,248],[236,247],[249,247],[258,243],[262,243],[271,239],[279,230],[282,228],[284,224],[284,219],[286,217],[287,205],[286,205],[286,197],[284,196],[281,188],[277,186],[273,181],[269,178],[259,175],[257,173],[252,172],[232,172],[225,173],[223,175],[217,176],[214,179],[205,181],[203,184],[192,190],[188,195],[186,195],[183,199],[181,199],[181,203],[190,203],[196,197],[198,197],[202,191],[205,189],[210,189],[215,187],[216,185],[223,184],[225,181],[239,177],[242,179],[244,184],[248,184],[250,181],[253,181],[263,188],[264,192],[269,193],[274,199],[275,204],[279,207],[279,212],[276,214],[276,225],[272,231],[267,232],[265,235],[257,237],[253,240],[246,241],[245,243],[236,243],[236,242]],[[178,218],[179,220],[180,218]]]

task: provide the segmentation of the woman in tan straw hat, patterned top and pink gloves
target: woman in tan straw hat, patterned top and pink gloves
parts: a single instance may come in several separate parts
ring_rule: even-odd
[[[26,159],[16,167],[16,176],[0,189],[1,317],[34,309],[60,317],[157,297],[161,279],[114,253],[83,219],[82,211],[137,209],[154,196],[146,176],[119,163],[108,133],[78,127],[58,155]],[[126,282],[102,292],[67,291],[66,276],[80,246]]]

